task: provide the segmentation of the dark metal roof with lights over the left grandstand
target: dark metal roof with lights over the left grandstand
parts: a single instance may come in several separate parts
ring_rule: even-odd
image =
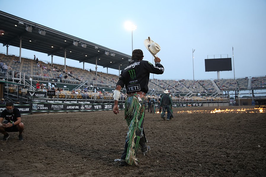
[[[104,68],[123,69],[130,55],[53,30],[40,24],[0,11],[0,37],[3,46],[15,46],[49,55],[91,63]],[[66,55],[65,55],[66,54]]]

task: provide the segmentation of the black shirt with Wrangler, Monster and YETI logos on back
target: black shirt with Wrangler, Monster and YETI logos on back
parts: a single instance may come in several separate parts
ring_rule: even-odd
[[[129,62],[128,66],[121,71],[119,81],[116,85],[120,85],[122,88],[126,86],[127,94],[135,91],[143,91],[147,94],[150,73],[164,73],[163,65],[156,62],[154,66],[145,60],[132,60]]]

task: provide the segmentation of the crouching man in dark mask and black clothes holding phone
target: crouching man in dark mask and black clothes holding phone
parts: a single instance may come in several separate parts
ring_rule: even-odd
[[[1,122],[4,120],[4,123]],[[14,104],[11,101],[6,103],[6,109],[1,112],[0,115],[0,132],[4,134],[2,141],[6,141],[9,138],[7,132],[19,132],[18,138],[23,141],[22,132],[24,130],[24,124],[21,122],[20,110],[14,108]]]

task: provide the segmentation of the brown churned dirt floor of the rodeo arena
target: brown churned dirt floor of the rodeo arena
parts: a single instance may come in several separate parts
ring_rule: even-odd
[[[114,162],[127,132],[124,111],[24,115],[24,141],[16,132],[0,141],[0,176],[266,176],[266,113],[214,109],[175,108],[171,121],[146,110],[151,150],[137,154],[139,166],[124,167]]]

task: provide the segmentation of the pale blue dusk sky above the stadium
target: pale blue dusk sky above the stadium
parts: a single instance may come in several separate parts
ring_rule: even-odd
[[[266,75],[266,1],[265,0],[88,0],[31,1],[1,0],[0,10],[104,47],[132,54],[132,33],[124,27],[130,21],[133,49],[142,49],[144,59],[153,57],[143,41],[151,37],[161,46],[157,54],[165,71],[158,79],[217,79],[217,72],[205,72],[204,59],[232,58],[235,78]],[[0,24],[1,29],[1,24]],[[6,53],[6,47],[0,47]],[[19,55],[19,48],[9,47]],[[23,57],[51,61],[51,56],[22,50]],[[64,58],[53,57],[64,63]],[[83,67],[67,59],[67,65]],[[85,63],[95,70],[95,65]],[[98,66],[98,71],[107,72]],[[108,69],[118,75],[118,70]],[[152,78],[153,75],[150,75]],[[234,78],[234,72],[221,71],[220,78]]]

